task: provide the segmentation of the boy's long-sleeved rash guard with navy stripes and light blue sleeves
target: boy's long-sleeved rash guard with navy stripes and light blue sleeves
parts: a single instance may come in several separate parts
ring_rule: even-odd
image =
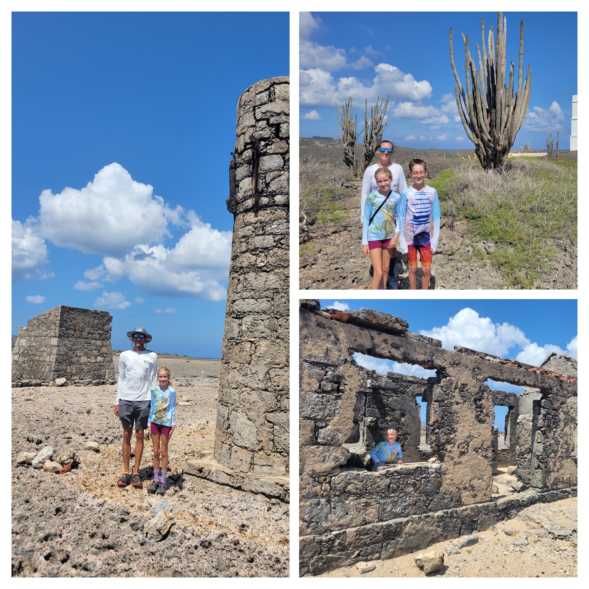
[[[440,234],[440,205],[433,186],[426,185],[423,190],[415,190],[412,186],[405,188],[397,201],[395,214],[401,253],[407,253],[407,246],[426,243],[431,243],[432,252],[435,252]]]

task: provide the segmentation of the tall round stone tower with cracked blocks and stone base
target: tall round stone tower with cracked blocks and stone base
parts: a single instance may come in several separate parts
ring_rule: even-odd
[[[185,472],[287,498],[289,475],[289,78],[237,103],[234,214],[214,456]]]

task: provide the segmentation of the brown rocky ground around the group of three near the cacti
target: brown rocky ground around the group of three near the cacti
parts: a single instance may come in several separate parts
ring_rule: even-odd
[[[301,246],[300,289],[369,289],[370,259],[360,250],[362,229],[359,228],[360,183],[358,195],[342,201],[348,221],[339,225],[313,226]],[[554,270],[545,272],[534,284],[537,289],[577,288],[577,244],[552,244],[561,252],[552,260]],[[438,249],[434,253],[430,289],[507,289],[505,276],[488,260],[472,256],[472,247],[492,252],[492,242],[473,241],[469,237],[468,221],[449,227],[449,219],[442,217]],[[409,269],[406,256],[398,255],[395,277],[399,289],[409,288]],[[418,264],[418,288],[421,285],[421,266]]]

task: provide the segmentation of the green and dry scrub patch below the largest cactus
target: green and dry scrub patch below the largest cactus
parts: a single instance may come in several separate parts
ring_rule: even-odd
[[[577,161],[510,158],[504,171],[485,171],[471,163],[442,170],[428,184],[440,200],[453,200],[457,217],[468,219],[473,237],[492,241],[487,259],[507,276],[511,288],[531,289],[539,269],[550,270],[557,250],[550,240],[576,239]],[[441,204],[443,214],[448,204]]]

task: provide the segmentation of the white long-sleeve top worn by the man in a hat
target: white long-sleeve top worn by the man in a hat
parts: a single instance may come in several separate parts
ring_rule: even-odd
[[[157,354],[151,350],[125,350],[118,359],[117,400],[150,401],[151,387],[157,386]]]

